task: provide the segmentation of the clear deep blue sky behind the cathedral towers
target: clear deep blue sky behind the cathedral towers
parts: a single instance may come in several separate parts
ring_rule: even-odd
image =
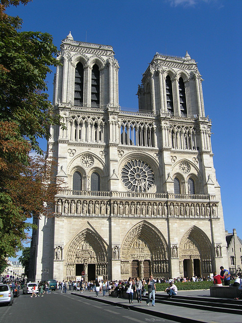
[[[74,40],[111,45],[120,66],[119,104],[132,109],[155,53],[183,57],[188,50],[204,79],[225,230],[235,228],[242,239],[241,0],[33,0],[7,13],[23,19],[24,31],[50,33],[58,48],[69,31]],[[47,80],[51,100],[53,73]]]

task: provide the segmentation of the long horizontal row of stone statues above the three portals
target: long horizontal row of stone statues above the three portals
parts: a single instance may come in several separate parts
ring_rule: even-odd
[[[56,203],[56,212],[83,215],[151,216],[176,218],[216,218],[215,203],[161,203],[114,201],[61,200]]]

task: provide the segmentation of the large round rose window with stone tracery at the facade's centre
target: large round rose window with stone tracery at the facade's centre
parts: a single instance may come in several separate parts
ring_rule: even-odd
[[[123,167],[122,181],[131,192],[147,192],[154,183],[154,173],[147,163],[134,159]]]

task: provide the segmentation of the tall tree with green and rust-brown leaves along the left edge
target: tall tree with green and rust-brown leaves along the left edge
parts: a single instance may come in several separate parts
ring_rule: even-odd
[[[61,125],[45,82],[50,66],[59,64],[57,49],[51,35],[21,32],[22,20],[6,14],[10,5],[29,1],[0,2],[0,272],[33,227],[26,220],[53,213],[58,190],[52,160],[29,157],[31,149],[43,153],[38,138],[49,139],[49,126]]]

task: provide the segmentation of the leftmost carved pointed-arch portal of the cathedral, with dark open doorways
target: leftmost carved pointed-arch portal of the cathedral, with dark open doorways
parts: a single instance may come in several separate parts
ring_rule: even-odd
[[[101,236],[89,228],[73,239],[66,259],[68,279],[76,280],[81,275],[78,273],[80,268],[81,272],[85,272],[86,279],[107,276],[107,248]]]

